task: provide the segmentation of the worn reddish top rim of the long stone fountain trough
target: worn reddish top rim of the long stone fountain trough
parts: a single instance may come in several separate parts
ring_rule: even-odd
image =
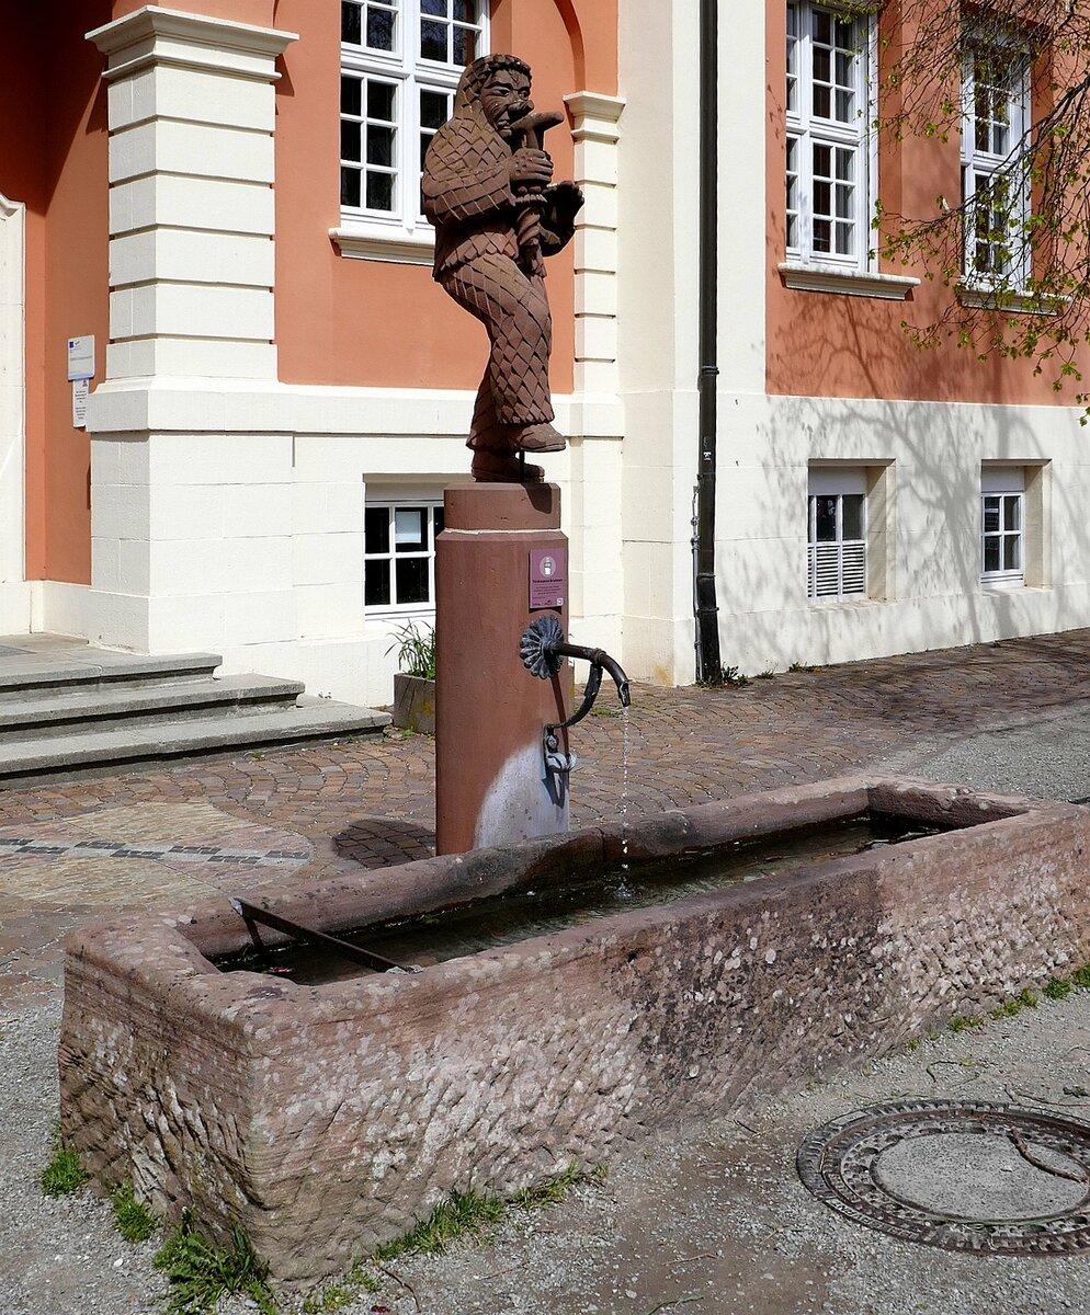
[[[615,861],[621,852],[621,840],[628,847],[631,860],[644,861],[699,852],[736,840],[760,840],[786,830],[819,826],[821,822],[835,822],[866,811],[914,819],[920,818],[923,813],[931,821],[949,827],[937,835],[920,836],[896,847],[911,851],[919,846],[949,844],[965,831],[1024,819],[1027,814],[1056,815],[1083,813],[1086,809],[1022,796],[975,792],[960,785],[936,785],[916,777],[845,776],[806,786],[754,792],[729,801],[669,809],[633,822],[596,825],[563,836],[361,869],[358,874],[338,876],[303,888],[286,882],[279,897],[269,898],[259,892],[250,896],[250,899],[258,903],[265,899],[270,909],[300,922],[309,920],[309,924],[336,934],[396,917],[463,907],[478,898],[521,889],[538,880],[548,856],[557,853],[577,859],[579,867],[590,869]],[[877,852],[882,853],[885,863],[895,863],[898,859],[898,855],[887,848]],[[804,864],[782,876],[744,885],[724,885],[720,890],[690,896],[669,905],[621,910],[562,931],[527,936],[524,940],[483,949],[471,956],[432,964],[423,973],[361,974],[321,985],[303,985],[246,970],[224,973],[216,967],[215,959],[226,957],[250,945],[245,924],[229,909],[225,896],[208,897],[184,906],[169,906],[159,913],[86,924],[68,934],[65,948],[68,955],[78,957],[117,963],[118,955],[121,959],[132,959],[134,943],[140,943],[147,951],[154,947],[154,953],[138,956],[138,967],[133,963],[133,969],[147,978],[149,985],[158,978],[165,989],[169,986],[172,992],[182,990],[191,997],[195,1007],[200,1007],[203,1002],[204,1007],[211,1007],[217,1015],[228,999],[237,1001],[242,1011],[246,1002],[259,1014],[265,1014],[274,1001],[290,1007],[292,1001],[301,998],[344,1001],[361,990],[369,994],[379,992],[383,995],[412,992],[424,978],[434,984],[449,977],[453,984],[461,978],[467,959],[479,965],[482,972],[487,972],[488,964],[494,964],[496,970],[504,970],[512,959],[533,960],[541,953],[559,952],[565,957],[595,953],[599,945],[619,936],[637,939],[641,934],[653,936],[663,924],[671,924],[703,910],[731,905],[745,906],[754,899],[777,905],[790,901],[792,890],[819,880],[824,881],[829,874],[849,877],[865,872],[873,867],[874,853],[875,851],[866,851]],[[473,881],[478,871],[487,873],[503,865],[513,865],[516,874],[502,889],[470,886],[461,893],[452,893],[449,886],[452,876],[469,873]],[[428,877],[432,878],[430,889],[427,885]],[[419,878],[425,878],[425,884],[419,884]],[[387,898],[386,902],[373,903],[367,913],[366,901],[375,896],[371,888],[383,888],[391,882],[411,888],[404,892],[407,898],[399,899],[395,893],[394,902]],[[458,897],[452,898],[452,894]],[[324,902],[325,917],[323,917]],[[270,947],[290,940],[288,936],[270,932],[267,928],[263,928],[263,939]],[[259,992],[254,990],[254,984],[261,986]]]

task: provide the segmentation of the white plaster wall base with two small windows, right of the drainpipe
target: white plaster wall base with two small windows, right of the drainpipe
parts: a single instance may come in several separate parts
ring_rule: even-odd
[[[720,434],[716,572],[724,664],[753,675],[1090,625],[1090,456],[1077,408],[812,397],[727,397]],[[810,462],[893,475],[886,597],[810,604]],[[1039,585],[981,585],[986,462],[1047,463],[1062,497],[1032,510]],[[1036,523],[1037,521],[1043,523]],[[881,526],[871,525],[871,534]]]

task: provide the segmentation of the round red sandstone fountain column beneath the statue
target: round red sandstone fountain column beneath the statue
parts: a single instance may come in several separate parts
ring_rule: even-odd
[[[567,669],[537,680],[519,656],[534,617],[552,611],[567,631],[559,510],[556,484],[446,490],[436,551],[438,853],[567,830],[567,778],[546,776],[541,746],[544,726],[567,715]]]

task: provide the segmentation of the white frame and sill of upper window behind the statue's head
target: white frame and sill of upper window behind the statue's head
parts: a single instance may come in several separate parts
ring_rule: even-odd
[[[367,83],[374,79],[394,88],[394,114],[390,122],[394,125],[394,150],[390,172],[394,178],[394,208],[383,210],[366,204],[366,141],[362,143],[361,154],[363,160],[351,160],[341,156],[341,171],[345,168],[359,170],[361,197],[359,205],[341,203],[341,226],[330,230],[342,255],[371,256],[405,263],[427,263],[430,251],[434,249],[434,229],[424,218],[420,206],[420,93],[433,91],[450,99],[453,107],[454,91],[462,76],[462,64],[441,63],[433,59],[424,59],[420,51],[420,22],[421,18],[434,18],[437,22],[453,24],[454,0],[448,3],[448,18],[424,12],[427,0],[370,0],[378,9],[390,9],[396,14],[396,28],[394,50],[375,50],[366,43],[355,45],[341,41],[341,74],[338,85],[344,80],[361,78],[361,113],[350,113],[344,109],[344,101],[338,114],[340,125],[344,122],[366,122],[367,118]],[[477,54],[488,51],[490,26],[490,0],[477,0],[479,8],[479,30]],[[361,8],[363,17],[362,41],[366,42],[366,14],[369,0],[342,0],[345,5]],[[458,26],[463,26],[458,24]],[[452,51],[453,54],[453,51]],[[366,137],[366,129],[365,129]],[[379,167],[376,172],[383,172]],[[342,184],[344,185],[344,184]]]

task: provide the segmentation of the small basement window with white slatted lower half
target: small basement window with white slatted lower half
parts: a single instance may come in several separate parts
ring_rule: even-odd
[[[806,592],[811,602],[868,597],[866,472],[810,472]]]

